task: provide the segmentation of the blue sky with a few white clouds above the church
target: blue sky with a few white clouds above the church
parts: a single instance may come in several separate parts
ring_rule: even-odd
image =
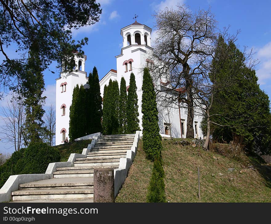
[[[98,69],[99,78],[102,78],[110,69],[116,69],[115,56],[119,55],[122,47],[122,37],[120,29],[134,22],[133,17],[137,14],[137,21],[153,28],[152,39],[155,38],[155,20],[152,16],[155,11],[163,10],[164,7],[176,7],[177,3],[184,3],[190,6],[193,12],[198,9],[208,9],[215,14],[219,29],[230,25],[230,33],[236,33],[241,29],[237,44],[240,48],[247,46],[253,48],[253,57],[259,59],[256,74],[259,83],[269,98],[271,97],[271,1],[252,0],[98,0],[102,8],[100,21],[92,26],[87,26],[75,30],[73,37],[75,40],[88,37],[88,45],[83,47],[87,55],[86,71],[89,73],[93,67]],[[46,106],[55,103],[55,79],[58,78],[59,71],[55,69],[55,64],[50,67],[55,71],[44,72],[47,96]],[[5,105],[6,99],[0,101],[0,106]],[[0,151],[13,152],[0,141]]]

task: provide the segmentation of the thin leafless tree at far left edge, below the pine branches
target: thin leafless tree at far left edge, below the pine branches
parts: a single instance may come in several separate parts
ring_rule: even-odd
[[[7,100],[7,106],[2,107],[2,120],[4,125],[0,129],[3,142],[10,142],[15,151],[24,145],[23,127],[25,122],[25,106],[19,94],[12,94]]]

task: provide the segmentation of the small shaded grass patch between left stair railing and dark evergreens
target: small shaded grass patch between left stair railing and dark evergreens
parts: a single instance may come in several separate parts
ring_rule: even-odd
[[[81,154],[84,148],[91,143],[91,140],[72,141],[69,143],[54,146],[59,150],[60,162],[67,162],[71,153]]]

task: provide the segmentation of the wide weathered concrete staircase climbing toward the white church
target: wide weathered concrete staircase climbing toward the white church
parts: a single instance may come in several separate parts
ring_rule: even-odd
[[[95,168],[119,168],[120,158],[131,149],[135,134],[104,135],[87,158],[77,158],[72,167],[57,168],[54,178],[19,185],[13,202],[93,202]]]

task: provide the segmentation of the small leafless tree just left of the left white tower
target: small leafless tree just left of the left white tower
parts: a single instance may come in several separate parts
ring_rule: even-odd
[[[48,130],[47,139],[51,146],[55,144],[55,119],[55,107],[51,104],[44,114],[44,124]]]

